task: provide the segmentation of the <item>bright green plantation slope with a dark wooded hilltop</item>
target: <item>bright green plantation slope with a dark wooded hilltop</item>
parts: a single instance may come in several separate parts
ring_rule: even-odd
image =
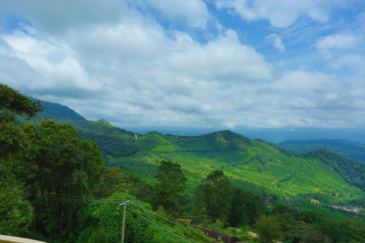
[[[136,145],[137,153],[112,158],[108,161],[110,165],[120,166],[152,182],[158,162],[172,159],[183,166],[189,178],[188,196],[214,169],[222,169],[233,185],[261,194],[269,204],[270,197],[277,195],[279,202],[291,198],[293,207],[316,208],[334,217],[343,215],[312,205],[310,199],[330,205],[345,204],[365,196],[365,192],[346,183],[317,158],[287,157],[268,144],[228,131],[187,139],[151,134],[138,138]],[[336,197],[330,196],[334,190]]]

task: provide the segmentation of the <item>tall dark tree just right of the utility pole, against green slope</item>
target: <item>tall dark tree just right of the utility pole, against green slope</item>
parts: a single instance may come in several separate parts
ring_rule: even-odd
[[[151,205],[154,209],[162,205],[168,213],[173,214],[178,207],[180,194],[185,190],[187,178],[177,162],[163,160],[158,171]]]

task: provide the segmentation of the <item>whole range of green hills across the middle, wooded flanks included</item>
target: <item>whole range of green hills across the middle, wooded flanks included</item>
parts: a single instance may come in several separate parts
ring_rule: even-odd
[[[365,163],[326,149],[298,153],[229,130],[199,136],[149,132],[135,139],[133,132],[105,120],[81,121],[44,113],[30,120],[19,117],[18,123],[38,125],[46,119],[72,125],[82,139],[98,144],[106,165],[132,172],[149,184],[154,184],[161,160],[179,162],[188,177],[185,202],[192,201],[195,188],[208,173],[221,169],[232,185],[260,195],[268,204],[281,202],[330,217],[351,213],[337,212],[331,204],[365,204]]]

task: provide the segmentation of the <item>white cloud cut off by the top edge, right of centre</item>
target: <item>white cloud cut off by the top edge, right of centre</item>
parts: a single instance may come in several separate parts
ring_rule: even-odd
[[[332,5],[343,1],[322,0],[216,0],[217,9],[228,9],[248,21],[267,19],[274,27],[288,27],[300,16],[327,22]]]

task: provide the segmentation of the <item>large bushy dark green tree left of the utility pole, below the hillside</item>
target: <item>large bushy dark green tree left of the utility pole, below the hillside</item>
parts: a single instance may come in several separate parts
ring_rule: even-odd
[[[54,121],[39,124],[30,143],[36,153],[25,162],[37,168],[37,173],[23,180],[32,195],[28,199],[37,206],[36,229],[65,240],[76,227],[76,213],[83,207],[67,198],[92,196],[104,159],[96,143],[82,141],[72,126],[55,125]]]

